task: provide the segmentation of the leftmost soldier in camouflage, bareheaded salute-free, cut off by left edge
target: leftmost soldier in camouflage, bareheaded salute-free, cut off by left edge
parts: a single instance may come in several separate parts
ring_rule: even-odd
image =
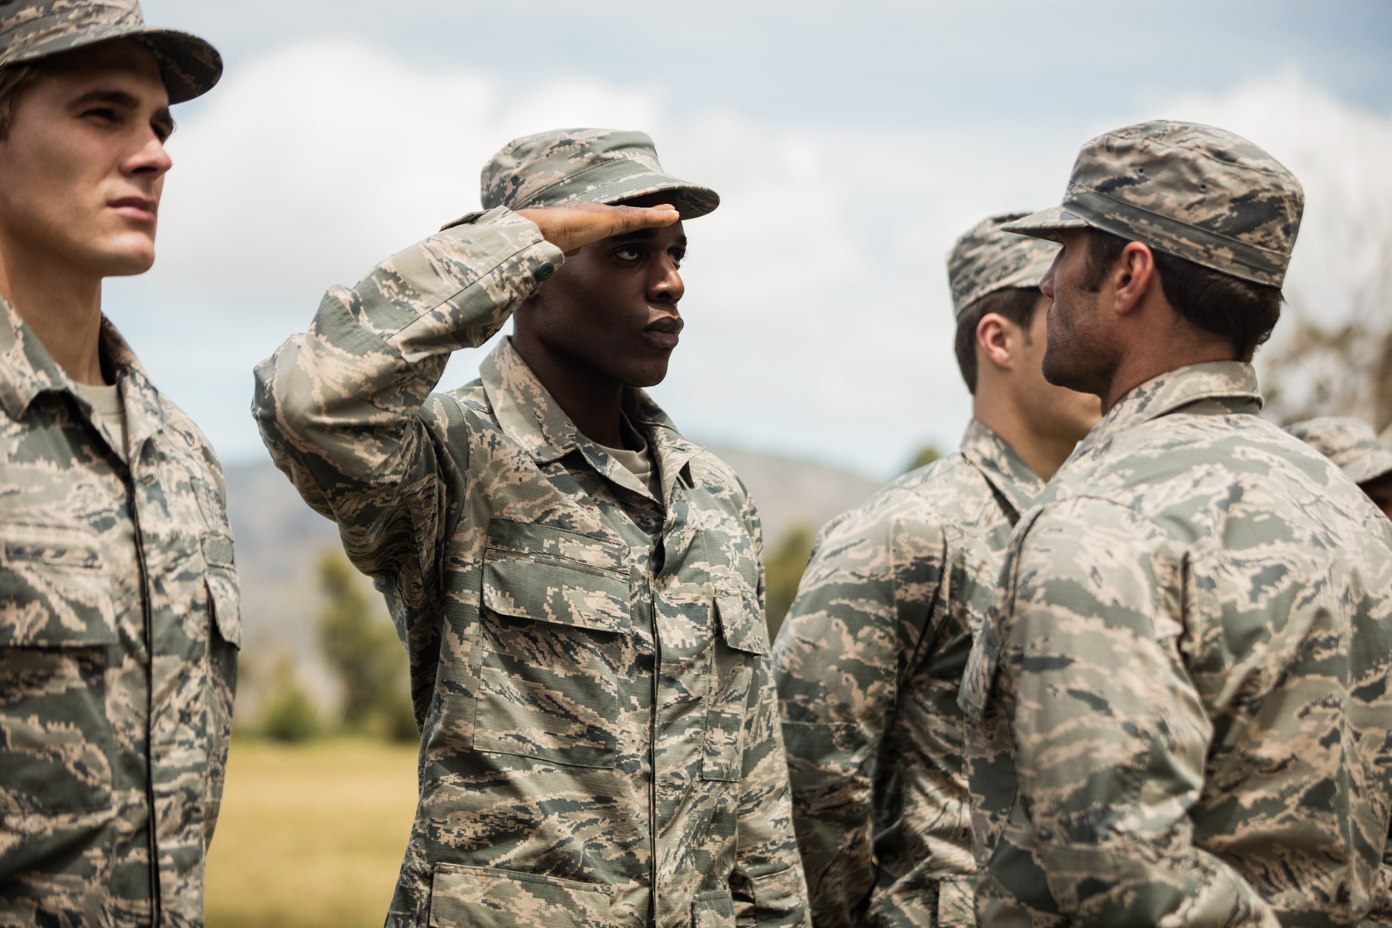
[[[200,925],[237,647],[217,457],[102,315],[221,59],[0,4],[0,925]]]

